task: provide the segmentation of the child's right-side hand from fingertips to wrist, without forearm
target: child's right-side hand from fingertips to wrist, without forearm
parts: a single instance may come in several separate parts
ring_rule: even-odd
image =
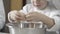
[[[29,14],[26,15],[26,20],[27,21],[41,21],[43,17],[43,14],[38,13],[38,12],[30,12]]]

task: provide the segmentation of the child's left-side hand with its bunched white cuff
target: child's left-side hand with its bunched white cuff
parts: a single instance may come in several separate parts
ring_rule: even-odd
[[[10,19],[11,21],[21,21],[25,20],[25,15],[24,13],[20,13],[17,10],[14,10],[8,13],[8,19]]]

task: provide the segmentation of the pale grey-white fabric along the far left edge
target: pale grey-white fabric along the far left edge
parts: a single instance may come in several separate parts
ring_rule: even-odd
[[[0,29],[3,28],[5,24],[5,11],[3,6],[3,0],[0,0]]]

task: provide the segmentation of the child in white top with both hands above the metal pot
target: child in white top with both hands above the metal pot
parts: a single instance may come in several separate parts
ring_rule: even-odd
[[[19,12],[14,10],[8,14],[10,22],[18,20],[42,21],[47,25],[49,31],[58,31],[60,29],[60,12],[50,7],[47,0],[31,0]]]

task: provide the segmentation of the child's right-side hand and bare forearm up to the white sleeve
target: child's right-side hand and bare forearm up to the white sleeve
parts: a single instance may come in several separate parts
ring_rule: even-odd
[[[51,28],[54,25],[54,20],[49,18],[48,16],[38,13],[38,12],[31,12],[26,15],[27,21],[42,21],[42,23],[46,24],[48,28]]]

